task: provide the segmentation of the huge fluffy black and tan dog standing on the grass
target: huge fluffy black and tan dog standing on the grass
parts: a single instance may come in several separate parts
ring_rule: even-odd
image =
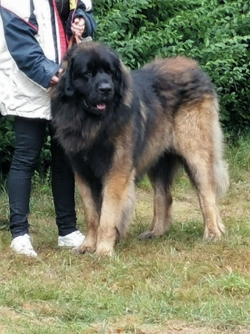
[[[183,164],[198,191],[204,239],[220,238],[216,199],[228,186],[218,101],[208,76],[185,57],[156,59],[129,72],[106,45],[68,51],[52,92],[56,135],[75,172],[87,223],[78,252],[112,255],[125,235],[134,181],[147,172],[154,214],[140,238],[170,227],[174,174]]]

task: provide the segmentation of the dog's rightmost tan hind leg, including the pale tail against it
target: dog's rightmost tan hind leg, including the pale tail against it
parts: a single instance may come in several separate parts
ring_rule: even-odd
[[[201,102],[180,109],[175,117],[174,138],[175,150],[198,191],[205,225],[203,238],[219,239],[225,227],[216,200],[227,190],[229,180],[222,158],[217,99],[207,95]]]

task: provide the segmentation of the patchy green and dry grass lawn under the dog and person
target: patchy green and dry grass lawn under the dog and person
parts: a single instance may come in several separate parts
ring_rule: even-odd
[[[139,241],[152,216],[147,180],[113,259],[57,247],[48,181],[34,177],[30,234],[40,259],[14,255],[7,195],[0,194],[0,334],[250,334],[250,140],[227,149],[231,186],[219,208],[227,234],[202,241],[198,199],[184,173],[173,187],[173,224]],[[84,231],[77,196],[79,228]]]

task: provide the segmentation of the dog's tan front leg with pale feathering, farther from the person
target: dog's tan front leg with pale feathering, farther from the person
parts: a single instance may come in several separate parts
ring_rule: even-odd
[[[97,236],[97,255],[112,256],[117,236],[123,237],[135,201],[134,170],[109,173],[103,189],[103,204]]]

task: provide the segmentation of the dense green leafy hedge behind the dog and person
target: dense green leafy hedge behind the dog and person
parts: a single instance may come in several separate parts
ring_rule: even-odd
[[[246,0],[94,0],[95,39],[138,68],[155,56],[198,60],[211,76],[228,137],[250,130],[250,4]],[[0,121],[0,159],[8,163],[13,134]],[[48,149],[48,143],[45,150]],[[41,159],[49,159],[47,151]],[[44,164],[44,162],[43,162]],[[1,164],[2,165],[2,164]],[[46,166],[45,162],[45,166]],[[5,165],[4,165],[5,166]]]

